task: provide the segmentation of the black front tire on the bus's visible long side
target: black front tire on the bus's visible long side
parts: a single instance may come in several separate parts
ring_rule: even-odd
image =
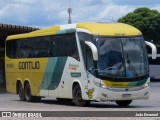
[[[90,101],[82,99],[82,92],[79,85],[73,88],[73,102],[76,106],[87,106]]]

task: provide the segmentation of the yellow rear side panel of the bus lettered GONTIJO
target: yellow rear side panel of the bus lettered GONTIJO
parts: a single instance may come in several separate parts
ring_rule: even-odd
[[[12,60],[6,58],[7,91],[16,93],[16,83],[20,79],[22,86],[24,82],[29,82],[33,96],[39,96],[47,61],[48,58]]]

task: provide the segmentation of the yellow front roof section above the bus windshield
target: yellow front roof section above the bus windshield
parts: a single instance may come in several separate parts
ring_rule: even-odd
[[[79,23],[77,28],[83,28],[92,34],[103,36],[136,36],[142,33],[130,25],[124,23]]]

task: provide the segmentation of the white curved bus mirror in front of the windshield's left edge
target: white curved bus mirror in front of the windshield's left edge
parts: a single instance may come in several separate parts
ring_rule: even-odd
[[[85,44],[91,48],[93,60],[98,61],[98,52],[97,52],[96,46],[92,42],[89,42],[89,41],[85,41]]]

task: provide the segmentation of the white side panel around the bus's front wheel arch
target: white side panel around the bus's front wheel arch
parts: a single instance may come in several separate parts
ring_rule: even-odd
[[[61,78],[59,89],[59,98],[73,98],[73,84],[77,82],[82,91],[82,97],[88,99],[87,96],[87,79],[84,66],[81,61],[68,57],[63,75]]]

